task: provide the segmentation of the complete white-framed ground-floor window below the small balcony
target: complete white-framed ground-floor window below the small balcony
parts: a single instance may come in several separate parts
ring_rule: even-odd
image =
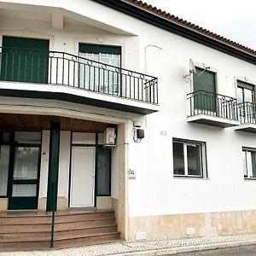
[[[173,139],[172,147],[174,176],[207,177],[205,143]]]

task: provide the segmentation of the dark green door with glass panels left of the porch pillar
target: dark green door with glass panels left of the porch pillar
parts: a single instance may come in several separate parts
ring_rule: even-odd
[[[35,209],[38,207],[39,157],[39,147],[15,147],[9,209]]]

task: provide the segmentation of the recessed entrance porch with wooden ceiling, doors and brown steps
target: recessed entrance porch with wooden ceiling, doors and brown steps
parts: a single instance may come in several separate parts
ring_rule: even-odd
[[[105,224],[103,227],[101,224],[96,225],[96,228],[100,230],[99,234],[105,234],[104,230],[113,231],[111,236],[104,235],[102,240],[98,240],[98,238],[84,240],[80,236],[68,237],[75,239],[73,241],[78,241],[74,243],[75,245],[111,241],[119,237],[119,232],[121,237],[125,238],[125,214],[123,213],[125,212],[125,201],[119,200],[124,197],[123,192],[118,193],[119,182],[122,181],[117,179],[117,172],[120,168],[119,155],[124,155],[125,147],[123,145],[106,147],[103,134],[106,128],[113,128],[115,133],[119,134],[119,137],[115,139],[120,141],[125,125],[25,113],[0,113],[0,120],[0,210],[2,211],[0,215],[5,220],[11,219],[9,227],[15,218],[15,222],[19,222],[20,216],[22,216],[24,228],[25,225],[31,224],[33,219],[39,217],[45,221],[42,223],[40,220],[39,224],[48,224],[49,228],[51,215],[48,212],[56,210],[56,224],[59,225],[61,218],[59,215],[68,215],[69,220],[64,220],[65,223],[69,223],[65,232],[69,230],[73,234],[72,230],[79,228],[83,219],[87,219],[88,215],[84,217],[84,214],[96,213],[96,215],[90,214],[90,217],[93,217],[90,220],[97,224],[94,217],[100,216],[98,212],[108,212],[107,215],[112,215],[110,230],[105,227]],[[59,129],[53,131],[52,124],[57,124]],[[51,167],[53,162],[56,163],[57,168]],[[119,177],[122,176],[123,174],[119,173]],[[56,189],[53,189],[54,186]],[[85,212],[84,209],[86,209]],[[22,210],[22,214],[20,214],[20,210]],[[32,212],[26,216],[28,210],[32,210]],[[77,213],[77,211],[82,211],[83,214]],[[73,224],[73,220],[76,219],[73,215],[83,215],[82,220],[77,220],[79,224]],[[118,228],[115,225],[114,217]],[[5,224],[3,218],[2,224]],[[105,222],[103,221],[103,223]],[[8,230],[9,227],[6,226],[1,230]],[[86,225],[84,227],[86,232],[88,228],[95,227]],[[15,229],[11,233],[15,233]],[[35,233],[34,231],[24,229],[17,231],[21,234],[17,235],[20,237],[17,238],[20,245],[23,242],[20,240],[23,233],[32,235],[31,233]],[[61,232],[62,230],[57,228],[55,231]],[[45,230],[45,232],[44,246],[49,244],[49,230]],[[87,237],[86,232],[83,237]],[[40,233],[40,229],[38,233]],[[75,233],[76,231],[74,231]],[[24,235],[24,237],[29,238],[30,235]],[[12,235],[3,236],[3,240],[0,239],[0,244],[2,246],[7,244],[10,236]],[[55,236],[55,241],[58,241],[58,236]],[[15,241],[16,235],[12,237]],[[29,239],[26,241],[30,241]],[[67,240],[67,238],[65,239]],[[61,242],[55,242],[55,247],[58,247],[59,243]],[[72,242],[65,243],[63,241],[62,244],[63,246],[68,244],[67,247],[70,247]],[[16,245],[18,248],[19,243]],[[40,246],[38,245],[38,247]]]

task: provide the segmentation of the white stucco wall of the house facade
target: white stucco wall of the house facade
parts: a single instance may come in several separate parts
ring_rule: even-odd
[[[85,2],[86,8],[78,8]],[[60,3],[55,1],[52,4]],[[62,3],[67,4],[67,1]],[[189,124],[186,121],[186,95],[192,88],[183,79],[183,75],[189,73],[190,58],[195,62],[206,63],[217,71],[218,93],[236,97],[236,78],[246,77],[256,84],[255,66],[97,3],[77,3],[72,6],[69,4],[68,9],[90,18],[84,19],[84,26],[67,22],[63,29],[56,30],[51,27],[50,20],[31,22],[1,18],[0,34],[49,38],[50,49],[73,54],[78,53],[79,42],[98,44],[98,38],[103,38],[102,44],[123,47],[123,67],[144,73],[147,62],[146,72],[159,78],[160,111],[146,117],[81,107],[73,103],[67,106],[51,102],[56,107],[79,109],[89,119],[95,117],[91,113],[97,113],[102,114],[105,121],[113,123],[118,123],[116,119],[140,119],[143,122],[145,138],[141,143],[133,142],[132,125],[129,130],[129,168],[136,172],[136,179],[129,180],[130,216],[255,209],[253,195],[256,194],[256,181],[244,180],[241,158],[242,146],[256,147],[255,135],[234,131],[234,128]],[[100,24],[108,26],[96,28]],[[24,35],[25,29],[30,30],[29,35]],[[124,31],[125,35],[121,35],[120,31]],[[149,44],[161,49],[148,47],[145,55],[145,47]],[[166,136],[160,135],[161,131],[165,131]],[[207,179],[173,177],[173,137],[207,143]],[[113,150],[113,163],[117,160],[118,153]],[[117,173],[118,170],[113,166],[112,183],[116,184]],[[41,174],[41,179],[46,179],[44,174]],[[59,193],[66,195],[65,188],[61,188]],[[116,198],[117,187],[113,185],[112,188],[112,195]],[[44,194],[44,190],[40,189],[40,195]]]

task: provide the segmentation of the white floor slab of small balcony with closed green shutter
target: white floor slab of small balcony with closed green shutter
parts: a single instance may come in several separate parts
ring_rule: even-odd
[[[207,114],[197,114],[194,116],[189,116],[187,118],[189,123],[196,123],[201,125],[211,125],[220,128],[227,128],[236,125],[240,125],[240,122],[233,119],[224,119],[217,116],[207,115]]]

